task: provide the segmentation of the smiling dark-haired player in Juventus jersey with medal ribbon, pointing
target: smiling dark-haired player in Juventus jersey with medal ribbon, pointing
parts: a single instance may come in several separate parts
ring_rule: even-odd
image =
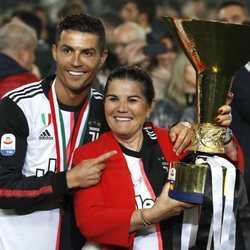
[[[66,17],[52,52],[56,76],[15,89],[0,102],[4,250],[81,249],[72,189],[98,183],[104,161],[116,153],[71,168],[74,149],[107,130],[102,95],[91,89],[107,57],[102,23],[85,14]],[[177,154],[189,142],[189,137],[183,141],[185,130],[179,127],[171,134]]]

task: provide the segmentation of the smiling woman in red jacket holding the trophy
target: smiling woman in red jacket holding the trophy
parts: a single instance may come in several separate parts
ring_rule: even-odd
[[[108,77],[104,96],[111,131],[78,148],[73,163],[117,154],[105,162],[99,184],[77,191],[78,227],[91,249],[171,249],[176,215],[193,205],[168,196],[168,164],[180,158],[166,129],[145,124],[155,102],[152,80],[138,67],[121,67]],[[221,110],[217,118],[228,126],[230,107]],[[236,147],[231,141],[225,150]]]

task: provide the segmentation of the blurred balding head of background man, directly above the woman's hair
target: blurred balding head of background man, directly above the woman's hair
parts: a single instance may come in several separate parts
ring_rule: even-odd
[[[137,52],[140,48],[142,49],[146,44],[145,31],[139,24],[134,22],[123,23],[114,30],[114,36],[115,53],[120,65],[141,62],[141,58],[135,58],[133,54],[133,52]],[[139,56],[145,59],[145,56],[141,53],[139,53]]]

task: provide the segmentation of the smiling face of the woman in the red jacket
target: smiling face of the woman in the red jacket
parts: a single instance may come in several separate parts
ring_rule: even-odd
[[[136,137],[151,111],[142,88],[132,80],[114,79],[109,83],[104,100],[107,122],[115,136]]]

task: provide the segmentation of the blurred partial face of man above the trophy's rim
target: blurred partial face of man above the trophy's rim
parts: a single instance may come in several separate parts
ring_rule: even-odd
[[[222,22],[242,24],[246,21],[246,15],[240,6],[229,5],[219,11],[218,19]]]

